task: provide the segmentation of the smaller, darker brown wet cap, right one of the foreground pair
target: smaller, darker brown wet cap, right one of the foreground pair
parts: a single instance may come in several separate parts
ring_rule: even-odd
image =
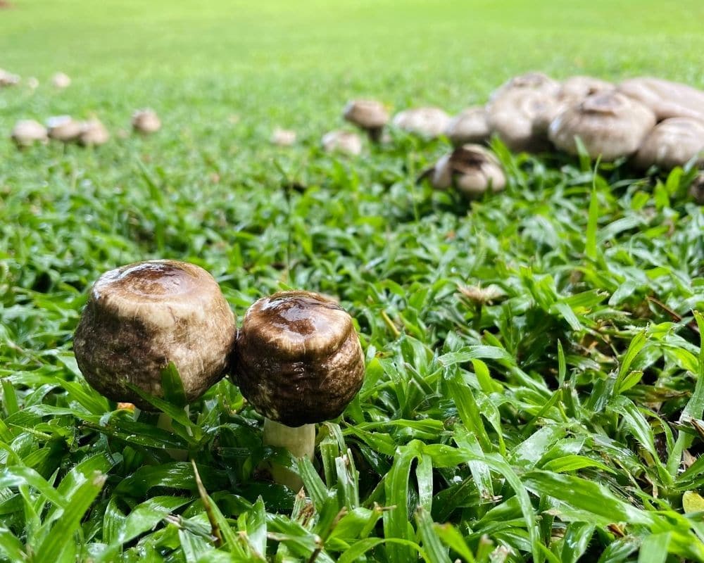
[[[283,291],[254,303],[235,358],[242,395],[257,412],[286,426],[338,417],[364,379],[352,318],[309,291]]]

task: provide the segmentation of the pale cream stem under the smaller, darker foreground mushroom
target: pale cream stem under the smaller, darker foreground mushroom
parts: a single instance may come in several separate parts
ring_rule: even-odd
[[[294,428],[265,418],[264,444],[275,448],[286,448],[293,457],[308,457],[312,460],[315,452],[315,424],[303,424]],[[301,477],[288,467],[271,463],[267,469],[277,483],[286,485],[294,491],[298,491],[303,486]]]

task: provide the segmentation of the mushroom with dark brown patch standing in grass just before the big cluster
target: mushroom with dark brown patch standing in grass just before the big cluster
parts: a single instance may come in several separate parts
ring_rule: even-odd
[[[468,198],[482,196],[488,189],[501,191],[506,177],[501,164],[480,145],[465,144],[437,161],[430,181],[436,189],[456,186]]]

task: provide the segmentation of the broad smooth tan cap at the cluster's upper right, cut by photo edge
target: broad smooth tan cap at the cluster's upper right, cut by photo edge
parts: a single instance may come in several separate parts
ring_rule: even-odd
[[[650,108],[658,121],[667,118],[704,120],[704,91],[686,84],[640,77],[624,80],[618,90]]]

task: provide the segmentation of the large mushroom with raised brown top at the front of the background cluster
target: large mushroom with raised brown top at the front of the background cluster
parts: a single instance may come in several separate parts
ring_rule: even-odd
[[[550,124],[553,144],[577,154],[579,137],[591,158],[611,162],[638,150],[643,138],[655,125],[655,115],[646,106],[617,91],[587,96],[558,115]]]

